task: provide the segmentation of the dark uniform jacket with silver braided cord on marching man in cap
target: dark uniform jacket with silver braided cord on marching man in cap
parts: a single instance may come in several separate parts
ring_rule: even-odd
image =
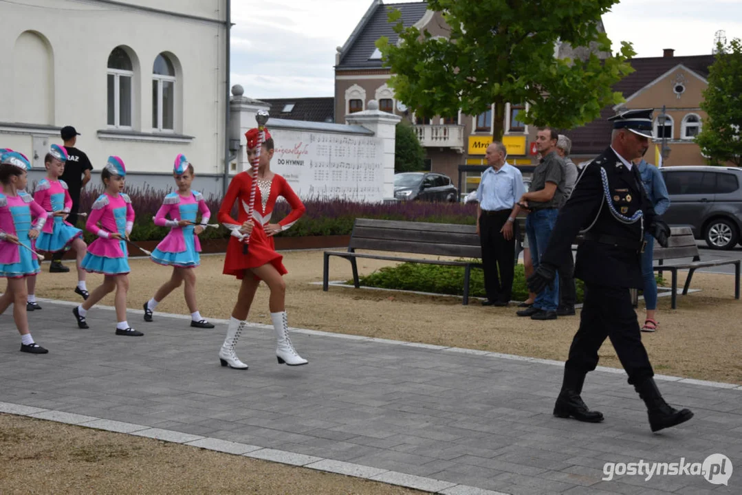
[[[608,182],[608,197],[601,168]],[[633,223],[618,218],[631,218],[639,210],[643,219]],[[640,250],[644,230],[653,220],[654,209],[646,197],[637,165],[628,170],[608,148],[585,165],[571,197],[559,212],[541,263],[566,265],[575,237],[588,229],[577,248],[575,278],[586,283],[640,289],[644,285]]]

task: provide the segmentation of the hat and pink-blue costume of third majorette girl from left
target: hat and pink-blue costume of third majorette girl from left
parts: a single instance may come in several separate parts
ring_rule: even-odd
[[[126,167],[119,157],[108,157],[105,168],[111,175],[126,176]],[[131,207],[128,195],[101,194],[93,203],[88,222],[85,223],[85,229],[98,238],[88,246],[88,254],[82,258],[80,267],[86,272],[103,275],[125,275],[130,272],[126,241],[111,239],[109,236],[115,232],[122,237],[128,235],[133,226],[134,208]]]

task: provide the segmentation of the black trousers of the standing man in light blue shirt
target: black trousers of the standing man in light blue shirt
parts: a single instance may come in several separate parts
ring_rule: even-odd
[[[500,233],[500,229],[510,217],[510,211],[482,210],[479,217],[479,243],[482,245],[485,292],[490,301],[508,302],[513,295],[517,223],[513,222],[513,237],[510,240],[505,240]]]

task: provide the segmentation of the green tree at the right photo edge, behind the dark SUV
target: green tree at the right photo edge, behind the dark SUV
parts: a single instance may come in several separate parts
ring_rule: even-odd
[[[700,108],[708,114],[695,142],[712,165],[742,165],[742,41],[719,43]]]

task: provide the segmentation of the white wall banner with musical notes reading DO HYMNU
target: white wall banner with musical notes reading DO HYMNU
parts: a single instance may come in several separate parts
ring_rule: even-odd
[[[270,127],[270,125],[269,125]],[[302,200],[384,199],[384,142],[372,136],[273,128],[271,170]]]

